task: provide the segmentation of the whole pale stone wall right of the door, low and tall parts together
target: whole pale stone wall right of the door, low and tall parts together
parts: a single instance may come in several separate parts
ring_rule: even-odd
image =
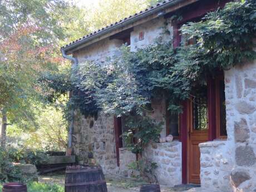
[[[225,71],[227,141],[200,144],[201,180],[216,191],[256,191],[256,61]]]

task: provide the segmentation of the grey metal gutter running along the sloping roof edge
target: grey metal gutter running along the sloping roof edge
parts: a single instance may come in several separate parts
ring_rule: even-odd
[[[150,9],[149,11],[139,13],[136,16],[128,18],[128,19],[126,19],[126,20],[124,20],[120,23],[114,24],[113,26],[111,26],[107,29],[103,29],[102,31],[96,32],[95,34],[93,34],[93,35],[91,35],[87,38],[83,38],[80,41],[72,43],[71,45],[67,45],[66,47],[61,48],[61,51],[62,51],[62,53],[63,52],[66,53],[68,51],[71,51],[73,48],[75,48],[77,46],[80,46],[82,44],[85,44],[89,41],[92,41],[93,39],[95,39],[97,37],[106,35],[107,33],[110,33],[111,31],[114,31],[115,29],[125,27],[125,26],[127,26],[131,23],[139,21],[140,19],[145,18],[147,16],[150,16],[152,14],[159,13],[159,12],[163,11],[163,9],[168,8],[170,6],[175,6],[176,4],[178,4],[180,2],[183,2],[183,1],[185,1],[185,0],[170,0],[169,2],[165,2],[165,3],[161,4],[160,6],[157,6],[155,8]]]

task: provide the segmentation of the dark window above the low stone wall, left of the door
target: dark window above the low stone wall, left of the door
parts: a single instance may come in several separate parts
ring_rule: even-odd
[[[174,139],[179,139],[179,114],[170,111],[166,112],[166,135],[173,135]]]

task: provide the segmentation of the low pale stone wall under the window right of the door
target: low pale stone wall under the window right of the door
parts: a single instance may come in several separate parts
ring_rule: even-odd
[[[211,141],[200,146],[200,178],[204,189],[231,192],[230,170],[234,167],[233,147],[227,141]]]

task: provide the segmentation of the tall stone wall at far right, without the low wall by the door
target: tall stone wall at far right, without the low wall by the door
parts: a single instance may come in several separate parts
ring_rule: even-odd
[[[233,191],[256,191],[256,61],[225,72],[227,126],[234,143]]]

